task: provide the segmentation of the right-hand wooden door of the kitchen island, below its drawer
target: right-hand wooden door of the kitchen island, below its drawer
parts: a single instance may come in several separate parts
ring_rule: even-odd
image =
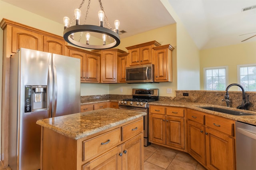
[[[143,149],[143,133],[122,144],[122,170],[143,170]]]

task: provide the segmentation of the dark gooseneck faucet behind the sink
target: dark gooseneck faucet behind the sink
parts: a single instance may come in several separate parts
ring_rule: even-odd
[[[230,107],[230,100],[229,100],[229,95],[228,95],[228,89],[231,87],[231,86],[238,86],[242,89],[242,104],[238,107],[236,107],[237,109],[246,109],[248,108],[248,106],[250,105],[250,101],[249,101],[249,95],[247,96],[247,101],[245,99],[245,92],[244,92],[244,87],[242,87],[242,85],[240,84],[237,84],[237,83],[233,83],[233,84],[230,84],[228,85],[228,87],[226,88],[226,94],[225,94],[225,97],[224,99],[222,99],[222,101],[226,101],[226,104],[227,104],[227,107]]]

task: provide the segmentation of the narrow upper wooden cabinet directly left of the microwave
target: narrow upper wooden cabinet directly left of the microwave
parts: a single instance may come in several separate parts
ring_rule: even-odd
[[[128,54],[129,53],[123,53],[118,55],[118,83],[126,82],[126,65]]]

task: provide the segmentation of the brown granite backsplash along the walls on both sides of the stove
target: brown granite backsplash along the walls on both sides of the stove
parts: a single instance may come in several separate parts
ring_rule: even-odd
[[[186,94],[184,94],[186,93]],[[160,101],[187,101],[195,103],[207,103],[210,105],[226,106],[226,102],[222,101],[224,99],[226,91],[204,91],[204,90],[176,90],[176,97],[165,97],[159,96]],[[231,101],[231,106],[236,108],[242,103],[242,91],[229,91],[229,99]],[[188,96],[184,96],[188,95]],[[256,92],[245,93],[246,99],[249,95],[250,107],[248,110],[256,111]],[[91,100],[91,99],[108,99],[108,100],[121,100],[132,98],[132,95],[91,95],[91,96],[81,96],[81,101]]]

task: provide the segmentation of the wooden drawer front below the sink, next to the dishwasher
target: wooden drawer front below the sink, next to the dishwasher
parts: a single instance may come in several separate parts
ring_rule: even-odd
[[[230,136],[234,136],[234,123],[206,116],[205,125]]]

